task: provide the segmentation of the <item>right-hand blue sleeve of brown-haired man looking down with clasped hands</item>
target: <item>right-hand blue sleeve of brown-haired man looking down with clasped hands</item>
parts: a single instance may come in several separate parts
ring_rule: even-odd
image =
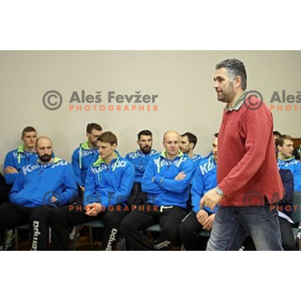
[[[109,205],[124,203],[130,196],[134,185],[135,170],[130,162],[125,165],[125,170],[122,175],[119,190],[114,194],[112,199],[109,199]]]

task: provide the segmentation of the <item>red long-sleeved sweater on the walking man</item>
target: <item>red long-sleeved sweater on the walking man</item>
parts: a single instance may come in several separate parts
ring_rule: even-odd
[[[233,110],[224,110],[218,135],[217,181],[226,196],[221,206],[260,206],[264,197],[269,203],[282,199],[273,118],[265,103],[251,110],[240,97]]]

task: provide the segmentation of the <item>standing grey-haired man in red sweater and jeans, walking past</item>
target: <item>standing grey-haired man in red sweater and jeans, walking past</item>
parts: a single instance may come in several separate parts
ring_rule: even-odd
[[[226,107],[219,130],[218,186],[201,200],[201,208],[218,204],[207,250],[238,250],[246,234],[257,250],[283,250],[277,212],[270,206],[283,197],[271,112],[262,97],[246,91],[241,61],[218,63],[214,82]]]

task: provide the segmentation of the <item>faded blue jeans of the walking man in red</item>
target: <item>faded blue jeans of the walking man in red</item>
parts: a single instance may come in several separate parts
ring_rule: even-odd
[[[252,207],[218,206],[207,250],[238,250],[251,236],[259,251],[283,250],[277,211],[269,204]]]

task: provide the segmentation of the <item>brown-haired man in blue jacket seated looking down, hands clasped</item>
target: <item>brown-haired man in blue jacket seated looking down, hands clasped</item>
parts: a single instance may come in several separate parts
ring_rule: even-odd
[[[103,132],[97,138],[99,157],[88,169],[83,205],[68,205],[52,215],[53,244],[69,250],[69,228],[91,220],[104,222],[103,250],[113,250],[121,219],[129,212],[126,201],[134,183],[134,167],[116,152],[117,137]]]

